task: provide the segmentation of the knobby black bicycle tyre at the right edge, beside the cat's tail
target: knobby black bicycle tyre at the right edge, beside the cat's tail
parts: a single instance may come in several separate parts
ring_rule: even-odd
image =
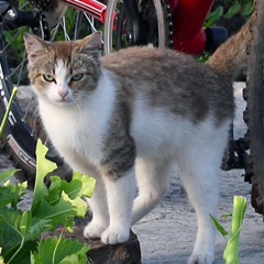
[[[255,1],[256,19],[252,24],[253,43],[249,57],[249,78],[244,90],[250,147],[245,179],[252,183],[251,204],[264,213],[264,1]]]

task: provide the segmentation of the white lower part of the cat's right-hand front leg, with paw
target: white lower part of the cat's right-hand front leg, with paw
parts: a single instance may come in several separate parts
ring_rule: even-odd
[[[105,244],[125,242],[130,237],[132,206],[135,197],[134,168],[118,179],[106,178],[110,224],[101,234]]]

